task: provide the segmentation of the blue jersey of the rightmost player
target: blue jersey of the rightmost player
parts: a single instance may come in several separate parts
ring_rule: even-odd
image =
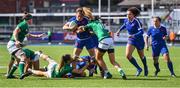
[[[152,45],[166,44],[163,37],[167,35],[167,30],[164,26],[160,26],[158,28],[155,26],[149,27],[147,35],[152,37]]]

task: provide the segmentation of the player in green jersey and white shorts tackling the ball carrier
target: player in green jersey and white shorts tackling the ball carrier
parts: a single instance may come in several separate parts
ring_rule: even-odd
[[[104,25],[99,20],[94,19],[93,16],[89,16],[88,14],[85,14],[85,16],[91,19],[90,22],[86,26],[78,27],[77,31],[83,32],[90,30],[97,35],[99,45],[98,51],[96,52],[96,59],[100,67],[104,70],[104,78],[112,78],[112,75],[108,71],[107,66],[103,60],[105,52],[108,52],[111,64],[118,69],[118,72],[121,74],[122,78],[126,79],[126,75],[122,70],[121,66],[115,61],[113,39],[110,36],[109,31],[105,29]]]

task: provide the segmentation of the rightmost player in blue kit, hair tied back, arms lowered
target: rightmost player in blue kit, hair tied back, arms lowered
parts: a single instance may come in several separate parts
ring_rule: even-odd
[[[169,51],[166,46],[165,39],[167,37],[167,30],[164,26],[161,25],[161,18],[160,17],[154,17],[153,18],[153,26],[149,27],[146,37],[146,49],[148,50],[148,38],[152,37],[151,45],[152,45],[152,55],[154,60],[154,67],[156,68],[156,71],[154,73],[155,76],[160,72],[159,68],[159,55],[160,53],[163,55],[164,59],[167,62],[167,66],[169,68],[169,71],[171,73],[172,77],[175,77],[175,73],[173,70],[173,64],[169,57]]]

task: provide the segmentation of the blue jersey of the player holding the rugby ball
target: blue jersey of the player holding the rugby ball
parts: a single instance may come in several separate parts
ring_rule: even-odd
[[[86,17],[84,17],[82,21],[77,21],[76,16],[74,16],[74,17],[69,19],[69,22],[71,22],[71,21],[74,21],[78,26],[84,26],[84,25],[88,24],[88,19]],[[77,33],[78,39],[86,39],[86,38],[89,38],[90,36],[91,36],[91,34],[89,31]]]

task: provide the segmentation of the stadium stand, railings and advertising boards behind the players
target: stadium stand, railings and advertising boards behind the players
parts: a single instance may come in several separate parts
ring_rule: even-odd
[[[153,3],[153,4],[152,4]],[[113,33],[117,31],[126,17],[126,10],[136,6],[141,10],[139,17],[145,31],[151,25],[152,15],[160,16],[168,32],[176,33],[176,42],[180,41],[180,0],[0,0],[0,43],[6,44],[12,31],[18,24],[24,11],[33,15],[31,33],[52,31],[52,43],[73,43],[74,34],[63,31],[62,26],[68,18],[74,16],[77,7],[87,6],[93,14]],[[126,42],[127,33],[120,37],[114,35],[116,43]],[[28,39],[28,43],[45,43],[47,38]]]

